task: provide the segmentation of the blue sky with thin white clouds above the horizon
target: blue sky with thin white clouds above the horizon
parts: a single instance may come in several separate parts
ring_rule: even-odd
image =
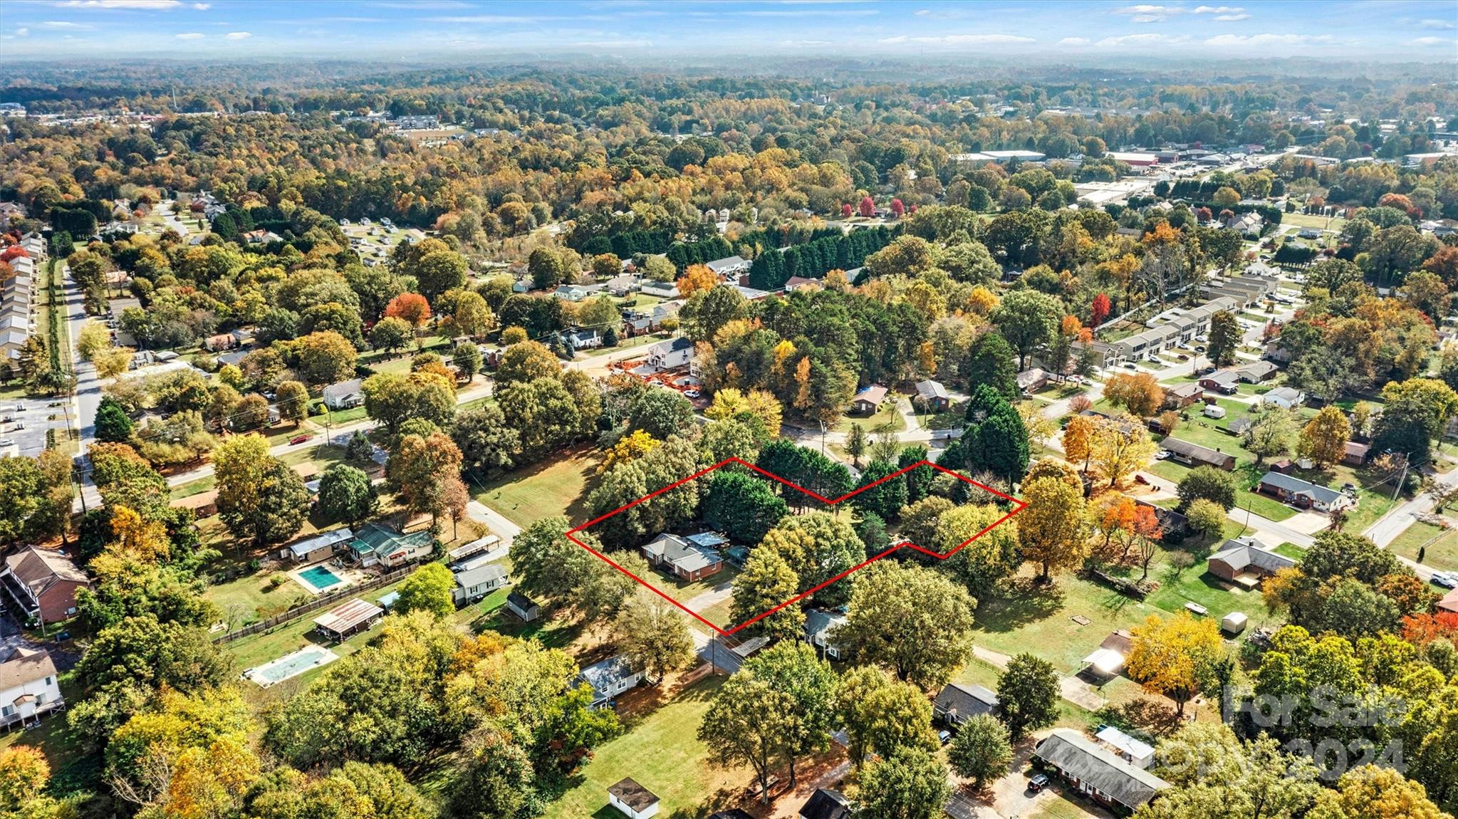
[[[0,60],[719,54],[1458,66],[1458,1],[0,0]]]

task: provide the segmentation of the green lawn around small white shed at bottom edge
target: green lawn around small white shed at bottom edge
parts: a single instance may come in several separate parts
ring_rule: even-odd
[[[725,771],[709,764],[709,749],[698,742],[698,723],[723,678],[706,678],[677,692],[639,720],[627,733],[598,746],[592,761],[574,777],[576,784],[553,802],[545,819],[608,819],[620,816],[608,806],[608,785],[633,777],[658,794],[660,816],[701,816],[706,803],[723,793],[738,794],[749,784],[748,771]],[[649,692],[655,694],[655,692]]]

